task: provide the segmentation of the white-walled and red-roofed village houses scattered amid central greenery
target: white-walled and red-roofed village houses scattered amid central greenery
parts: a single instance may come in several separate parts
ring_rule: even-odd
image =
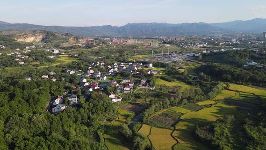
[[[100,68],[105,67],[106,73],[101,73],[100,71],[96,71],[93,67],[100,66]],[[122,80],[118,83],[116,80],[107,80],[107,75],[115,75],[119,71],[128,71],[132,74],[141,73],[138,68],[140,67],[147,67],[148,70],[145,70],[147,74],[160,74],[159,71],[153,71],[152,64],[149,63],[147,65],[143,65],[142,63],[114,63],[113,67],[110,65],[105,65],[104,62],[95,62],[92,64],[91,67],[85,73],[76,72],[74,70],[65,70],[65,73],[71,75],[79,75],[79,84],[75,85],[79,89],[86,91],[86,95],[90,95],[93,91],[100,91],[107,93],[108,97],[112,100],[113,103],[119,102],[122,100],[120,94],[122,93],[131,93],[133,91],[134,82],[130,78],[122,78]],[[98,67],[99,68],[99,67]],[[41,78],[45,80],[52,80],[56,81],[56,78],[53,77],[55,72],[49,72],[49,75],[42,75]],[[25,78],[26,80],[31,80],[30,77]],[[88,81],[88,79],[90,81]],[[107,92],[108,87],[113,87],[116,91],[115,93]],[[146,89],[154,89],[154,87],[150,87],[147,83],[147,79],[143,78],[140,80],[140,84],[137,88],[146,88]],[[85,96],[85,94],[83,94]],[[77,95],[69,95],[65,94],[63,96],[58,96],[52,103],[52,113],[61,112],[66,109],[66,104],[64,104],[64,98],[68,97],[69,105],[76,105],[78,104],[78,97]]]

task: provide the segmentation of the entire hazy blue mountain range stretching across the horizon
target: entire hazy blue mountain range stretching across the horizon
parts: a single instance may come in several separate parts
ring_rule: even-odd
[[[167,35],[209,35],[216,33],[262,33],[266,31],[266,19],[236,20],[224,23],[129,23],[124,26],[64,27],[33,24],[11,24],[0,21],[0,31],[46,30],[57,33],[71,33],[76,36],[167,36]]]

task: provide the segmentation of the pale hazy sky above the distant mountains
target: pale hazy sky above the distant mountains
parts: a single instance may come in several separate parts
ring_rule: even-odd
[[[266,18],[266,0],[0,0],[0,21],[58,26]]]

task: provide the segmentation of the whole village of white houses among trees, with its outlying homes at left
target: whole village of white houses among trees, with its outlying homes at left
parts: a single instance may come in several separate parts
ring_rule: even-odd
[[[106,72],[100,72],[97,68],[105,69]],[[156,75],[162,74],[160,71],[153,70],[153,64],[142,64],[142,63],[114,63],[112,65],[106,65],[105,62],[94,62],[88,68],[87,71],[82,72],[81,70],[75,71],[72,69],[66,69],[65,74],[78,76],[78,84],[73,84],[76,90],[81,90],[85,98],[90,96],[92,92],[105,93],[108,95],[113,103],[122,101],[121,95],[132,93],[133,89],[150,89],[154,90],[155,85],[150,85],[146,78],[133,79],[129,77],[122,77],[122,80],[111,79],[112,76],[117,75],[119,72],[130,73],[131,75]],[[41,79],[51,80],[56,82],[54,77],[56,73],[53,71],[49,72],[49,75],[42,75]],[[63,80],[66,80],[64,77]],[[109,79],[107,79],[109,78]],[[26,77],[25,80],[31,81],[36,80],[31,77]],[[67,84],[67,83],[65,83]],[[112,88],[112,92],[108,88]],[[58,95],[51,100],[50,106],[46,111],[57,113],[66,109],[66,99],[68,104],[75,106],[79,102],[77,92],[73,94],[64,93],[63,95]]]

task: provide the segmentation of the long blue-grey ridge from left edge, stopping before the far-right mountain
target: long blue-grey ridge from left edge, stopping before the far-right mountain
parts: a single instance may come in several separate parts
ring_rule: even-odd
[[[78,36],[157,36],[176,34],[212,34],[223,32],[224,29],[206,23],[133,23],[121,27],[92,26],[92,27],[61,27],[41,26],[33,24],[0,23],[0,30],[46,30],[58,33],[71,33]]]

